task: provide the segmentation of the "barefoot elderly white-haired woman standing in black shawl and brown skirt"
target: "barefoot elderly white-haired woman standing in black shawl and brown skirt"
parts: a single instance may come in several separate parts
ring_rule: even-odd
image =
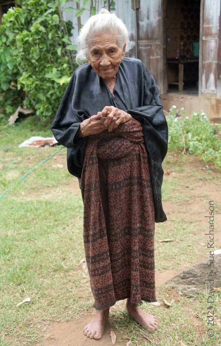
[[[145,65],[125,57],[128,31],[102,9],[79,34],[80,65],[71,76],[51,130],[67,147],[68,171],[79,178],[83,239],[96,317],[84,334],[100,339],[109,308],[147,330],[159,321],[139,306],[156,302],[155,222],[162,208],[162,161],[168,128],[156,82]]]

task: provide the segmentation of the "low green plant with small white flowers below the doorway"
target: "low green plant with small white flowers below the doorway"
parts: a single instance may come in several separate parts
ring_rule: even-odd
[[[177,115],[180,115],[181,119]],[[168,149],[197,155],[205,163],[213,162],[221,169],[221,140],[214,133],[215,126],[210,125],[210,120],[203,111],[194,112],[190,117],[185,115],[183,108],[178,112],[176,106],[170,109],[167,118]]]

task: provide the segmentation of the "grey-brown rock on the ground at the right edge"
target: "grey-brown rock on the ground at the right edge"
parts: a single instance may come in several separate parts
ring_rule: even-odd
[[[214,280],[214,283],[212,283],[212,280]],[[212,286],[213,288],[221,287],[221,255],[209,256],[208,260],[197,263],[172,277],[165,282],[165,285],[172,285],[173,288],[187,295],[198,294],[206,287],[208,289]]]

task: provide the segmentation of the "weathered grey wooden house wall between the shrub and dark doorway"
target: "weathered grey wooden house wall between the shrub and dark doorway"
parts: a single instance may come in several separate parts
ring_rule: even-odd
[[[130,39],[134,42],[134,47],[131,49],[128,56],[136,57],[135,37],[136,37],[136,20],[137,18],[137,38],[138,38],[138,51],[137,57],[144,62],[147,69],[154,75],[159,91],[163,90],[163,25],[162,25],[162,2],[163,0],[146,1],[140,0],[140,8],[133,10],[131,8],[131,0],[116,1],[115,11],[116,15],[125,23]],[[65,7],[75,7],[74,1],[65,3]],[[80,7],[83,6],[83,0],[80,0]],[[101,1],[99,8],[103,7]],[[63,10],[63,17],[65,20],[73,22],[74,29],[72,30],[73,37],[72,43],[76,43],[78,36],[77,19],[74,17],[75,11],[70,15]],[[85,11],[81,16],[81,23],[84,24],[89,18],[88,11]]]

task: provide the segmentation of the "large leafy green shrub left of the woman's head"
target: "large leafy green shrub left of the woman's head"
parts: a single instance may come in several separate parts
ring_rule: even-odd
[[[0,25],[0,108],[6,117],[19,105],[42,121],[52,119],[77,65],[70,50],[73,28],[59,1],[17,0]],[[69,54],[69,55],[68,55]]]

